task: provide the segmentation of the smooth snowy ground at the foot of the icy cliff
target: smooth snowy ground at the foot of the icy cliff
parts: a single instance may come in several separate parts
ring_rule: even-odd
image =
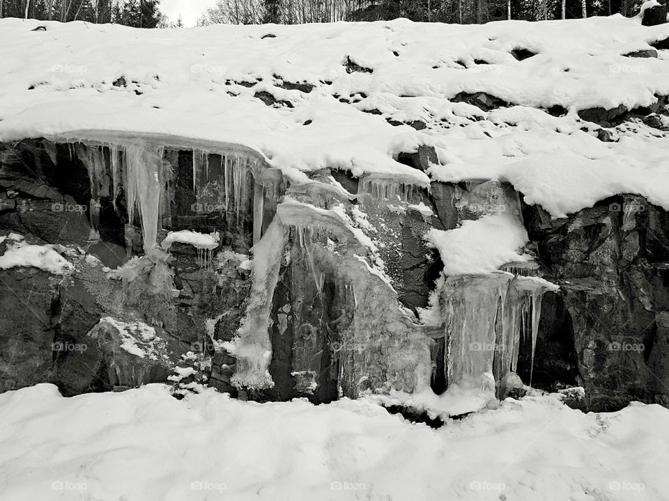
[[[661,501],[668,456],[666,408],[586,415],[554,395],[438,430],[348,399],[0,395],[3,501]]]

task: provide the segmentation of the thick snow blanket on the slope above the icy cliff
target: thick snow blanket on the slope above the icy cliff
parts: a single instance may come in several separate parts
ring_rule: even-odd
[[[39,24],[47,31],[31,31]],[[2,19],[0,141],[241,145],[302,180],[324,167],[419,184],[500,179],[553,216],[621,192],[669,209],[666,134],[636,123],[605,143],[576,114],[669,95],[669,51],[624,56],[668,36],[668,24],[620,15],[174,30]],[[517,61],[514,49],[536,55]],[[514,106],[454,102],[480,92]],[[397,161],[419,145],[439,153],[427,174]]]

